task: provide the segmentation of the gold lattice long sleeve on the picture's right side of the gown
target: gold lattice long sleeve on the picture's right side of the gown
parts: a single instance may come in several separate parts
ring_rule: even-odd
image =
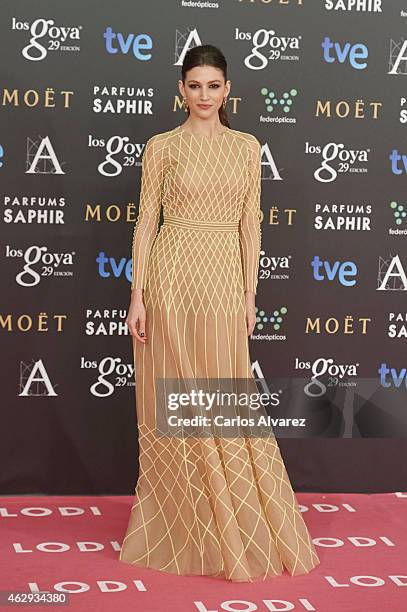
[[[257,276],[261,247],[261,145],[250,141],[248,188],[239,225],[245,291],[257,292]]]

